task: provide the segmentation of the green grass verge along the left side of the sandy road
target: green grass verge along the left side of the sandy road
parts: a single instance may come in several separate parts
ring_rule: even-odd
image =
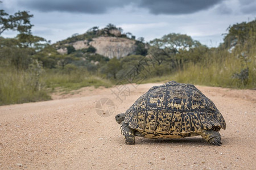
[[[56,88],[67,94],[87,86],[111,87],[112,82],[84,71],[61,73],[46,70],[40,78],[36,78],[35,74],[28,71],[0,67],[0,105],[51,100],[50,94]]]

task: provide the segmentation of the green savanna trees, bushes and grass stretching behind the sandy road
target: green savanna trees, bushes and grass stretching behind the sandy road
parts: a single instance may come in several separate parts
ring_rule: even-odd
[[[256,20],[231,25],[218,48],[208,48],[188,35],[170,33],[144,42],[122,28],[108,24],[93,27],[82,35],[50,44],[32,35],[32,15],[0,10],[0,105],[49,100],[56,90],[71,91],[85,86],[111,87],[117,83],[167,82],[176,80],[206,86],[256,87]],[[14,38],[1,37],[11,29]],[[94,37],[116,36],[136,41],[137,49],[117,59],[97,54],[89,45]],[[88,48],[71,44],[87,40]],[[59,48],[67,53],[60,54]],[[131,74],[133,73],[133,74]]]

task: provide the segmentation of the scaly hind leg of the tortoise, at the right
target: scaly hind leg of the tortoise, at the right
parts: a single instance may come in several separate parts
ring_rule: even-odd
[[[218,133],[218,131],[214,130],[203,130],[201,133],[199,133],[201,137],[205,139],[208,143],[211,145],[217,145],[221,146],[221,135]]]

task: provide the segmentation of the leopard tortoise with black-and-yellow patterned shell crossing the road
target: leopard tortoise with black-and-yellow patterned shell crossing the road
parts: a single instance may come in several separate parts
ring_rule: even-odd
[[[193,84],[174,81],[151,87],[115,120],[121,124],[128,145],[135,144],[135,136],[155,139],[201,135],[211,145],[220,146],[218,131],[226,129],[224,117],[212,100]]]

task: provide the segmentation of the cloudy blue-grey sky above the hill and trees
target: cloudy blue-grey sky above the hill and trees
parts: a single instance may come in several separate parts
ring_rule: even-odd
[[[216,47],[229,25],[256,19],[255,0],[1,0],[9,14],[30,11],[33,35],[52,43],[109,23],[146,41],[168,33]],[[6,31],[1,36],[15,37]]]

